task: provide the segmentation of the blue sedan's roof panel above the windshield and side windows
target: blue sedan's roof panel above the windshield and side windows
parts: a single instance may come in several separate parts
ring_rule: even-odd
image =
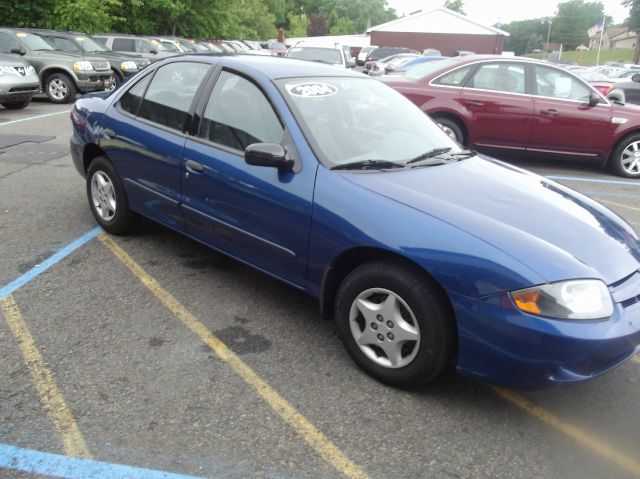
[[[220,54],[220,53],[194,53],[169,57],[158,64],[167,64],[175,61],[188,61],[189,59],[205,60],[211,64],[224,62],[225,66],[235,67],[239,70],[252,70],[256,75],[263,75],[271,80],[279,78],[296,77],[354,77],[368,79],[359,72],[353,72],[346,68],[310,62],[307,60],[295,60],[292,58],[276,58],[258,55],[244,54]]]

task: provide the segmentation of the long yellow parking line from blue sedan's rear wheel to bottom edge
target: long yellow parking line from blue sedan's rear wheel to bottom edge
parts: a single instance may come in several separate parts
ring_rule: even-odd
[[[227,363],[262,399],[289,424],[315,451],[336,470],[347,477],[365,479],[368,476],[345,456],[331,440],[320,432],[307,418],[264,382],[247,364],[236,356],[207,327],[191,314],[180,302],[165,290],[105,233],[98,239],[144,284],[160,302],[204,341],[218,357]]]

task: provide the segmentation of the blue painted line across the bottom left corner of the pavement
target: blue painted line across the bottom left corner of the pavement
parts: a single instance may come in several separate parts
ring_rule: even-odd
[[[202,479],[0,444],[0,467],[62,479]]]

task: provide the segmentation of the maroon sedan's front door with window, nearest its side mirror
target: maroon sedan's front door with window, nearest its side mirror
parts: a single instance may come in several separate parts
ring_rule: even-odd
[[[537,153],[603,157],[615,124],[602,99],[589,105],[593,90],[559,68],[531,65],[535,116],[528,149]]]

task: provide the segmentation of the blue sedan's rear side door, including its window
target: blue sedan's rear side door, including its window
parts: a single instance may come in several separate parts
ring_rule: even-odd
[[[196,92],[211,66],[172,62],[136,81],[104,116],[100,146],[116,165],[131,207],[183,229],[182,150]]]

